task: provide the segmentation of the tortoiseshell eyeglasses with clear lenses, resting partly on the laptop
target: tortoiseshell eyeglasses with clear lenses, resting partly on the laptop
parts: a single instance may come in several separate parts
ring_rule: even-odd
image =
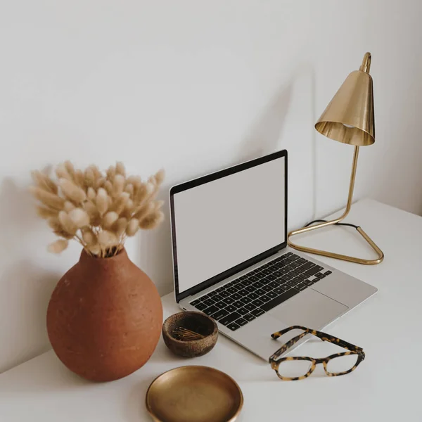
[[[291,330],[302,330],[303,333],[293,337],[285,345],[281,346],[274,354],[269,357],[269,364],[271,368],[276,371],[277,376],[283,381],[296,381],[307,378],[314,372],[317,364],[324,365],[324,371],[328,376],[339,376],[350,373],[357,368],[357,366],[365,359],[365,353],[362,347],[357,347],[350,343],[347,343],[345,340],[340,340],[340,338],[333,337],[321,331],[311,330],[310,328],[302,326],[291,326],[282,331],[277,331],[274,334],[271,334],[271,337],[277,339],[281,335],[288,333]],[[286,352],[290,347],[295,343],[305,337],[307,334],[316,335],[316,337],[321,338],[323,341],[328,341],[334,343],[335,345],[344,347],[349,350],[348,352],[335,353],[331,356],[314,359],[313,357],[282,357],[278,359],[281,354]]]

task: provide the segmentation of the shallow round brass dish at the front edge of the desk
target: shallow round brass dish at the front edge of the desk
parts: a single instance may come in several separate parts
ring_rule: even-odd
[[[207,366],[171,369],[146,392],[146,409],[155,422],[234,422],[242,406],[236,381]]]

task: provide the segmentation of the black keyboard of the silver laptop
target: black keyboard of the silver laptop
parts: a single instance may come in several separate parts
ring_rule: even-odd
[[[236,331],[330,274],[288,252],[190,304]]]

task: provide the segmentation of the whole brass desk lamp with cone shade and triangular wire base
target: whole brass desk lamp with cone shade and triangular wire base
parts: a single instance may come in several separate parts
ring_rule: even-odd
[[[349,214],[352,205],[354,179],[356,177],[357,157],[359,155],[359,147],[372,145],[375,142],[375,122],[373,115],[373,87],[372,77],[369,75],[371,68],[371,53],[366,53],[362,65],[359,70],[350,73],[343,85],[337,91],[327,108],[319,117],[315,124],[315,129],[330,139],[347,143],[354,146],[352,176],[350,177],[349,197],[345,212],[341,217],[333,219],[329,222],[317,220],[319,224],[309,223],[302,229],[290,231],[288,234],[288,245],[302,252],[323,255],[324,257],[336,258],[338,260],[356,262],[357,264],[375,265],[384,259],[383,251],[373,242],[373,240],[364,232],[362,227],[353,224],[340,223],[347,214]],[[291,241],[291,237],[297,234],[305,233],[321,227],[331,226],[332,224],[340,224],[352,226],[359,234],[361,234],[366,242],[371,245],[373,250],[378,254],[375,260],[365,260],[364,258],[351,257],[341,255],[335,252],[307,248],[305,246],[296,245]]]

